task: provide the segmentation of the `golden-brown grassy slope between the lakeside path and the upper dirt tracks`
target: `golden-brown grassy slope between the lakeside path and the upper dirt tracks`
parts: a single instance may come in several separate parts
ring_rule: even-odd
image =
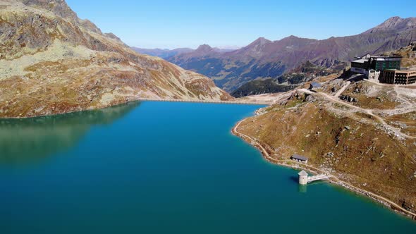
[[[238,130],[257,138],[276,159],[303,154],[357,187],[416,206],[415,140],[398,140],[369,116],[340,104],[306,100],[300,95],[270,106]]]

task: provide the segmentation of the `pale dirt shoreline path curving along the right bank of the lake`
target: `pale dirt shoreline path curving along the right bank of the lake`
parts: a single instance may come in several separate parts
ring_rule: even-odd
[[[267,161],[269,161],[269,163],[279,165],[279,166],[288,167],[288,168],[298,169],[298,170],[299,169],[300,170],[305,170],[305,171],[308,171],[308,172],[313,173],[313,174],[325,173],[326,175],[329,176],[329,179],[328,179],[329,183],[344,187],[345,189],[350,190],[351,192],[355,192],[356,194],[364,195],[365,197],[369,197],[373,201],[378,202],[379,204],[382,204],[384,207],[388,207],[392,211],[395,211],[398,214],[401,214],[403,216],[411,218],[413,221],[416,221],[416,214],[415,213],[412,213],[411,211],[408,211],[408,210],[404,209],[403,207],[400,207],[395,202],[392,202],[391,200],[389,200],[385,197],[381,197],[379,195],[376,195],[373,192],[369,192],[369,191],[363,190],[359,187],[355,187],[354,185],[351,185],[350,183],[345,182],[345,181],[341,180],[340,178],[338,178],[338,177],[336,177],[332,174],[326,173],[326,172],[322,171],[319,168],[316,168],[314,166],[310,166],[310,165],[307,165],[307,164],[301,164],[301,163],[298,163],[298,162],[295,163],[294,165],[292,165],[293,161],[291,161],[289,159],[283,159],[283,160],[274,159],[273,157],[271,157],[269,155],[269,152],[267,152],[267,150],[262,146],[262,144],[259,143],[255,138],[238,132],[238,127],[245,120],[246,120],[246,118],[243,119],[242,121],[239,121],[233,127],[233,129],[231,130],[231,133],[233,133],[233,135],[235,135],[237,137],[240,137],[241,139],[243,139],[248,144],[251,144],[253,147],[259,149],[259,151],[262,153],[263,158],[266,159]]]

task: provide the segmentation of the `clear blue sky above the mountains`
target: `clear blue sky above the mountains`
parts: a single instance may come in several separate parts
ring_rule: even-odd
[[[356,35],[392,16],[416,17],[414,0],[67,0],[80,18],[142,48],[243,47],[258,37]]]

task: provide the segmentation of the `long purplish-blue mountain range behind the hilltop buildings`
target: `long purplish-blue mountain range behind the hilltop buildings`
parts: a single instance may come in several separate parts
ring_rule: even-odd
[[[393,17],[359,35],[317,40],[290,36],[277,41],[263,37],[226,53],[187,53],[167,58],[188,70],[207,75],[227,91],[257,78],[279,78],[286,70],[311,61],[339,66],[362,54],[382,54],[416,40],[416,18]]]

